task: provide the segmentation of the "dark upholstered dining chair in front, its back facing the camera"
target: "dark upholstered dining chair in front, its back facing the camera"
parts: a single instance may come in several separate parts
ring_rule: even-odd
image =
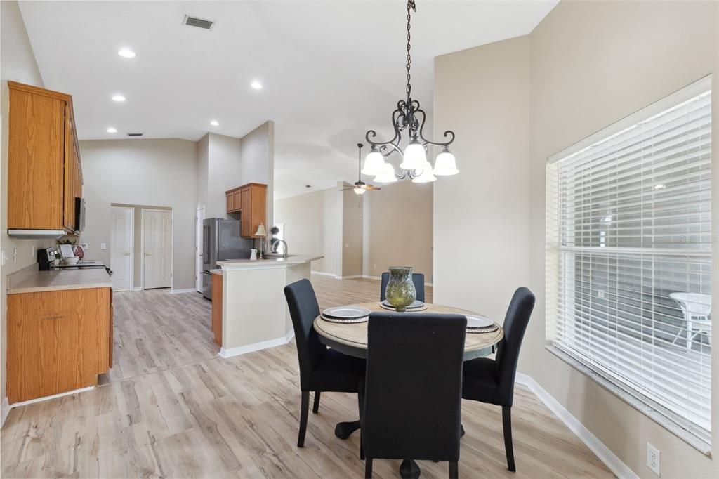
[[[374,459],[449,461],[456,478],[467,318],[372,313],[362,410],[365,477]]]

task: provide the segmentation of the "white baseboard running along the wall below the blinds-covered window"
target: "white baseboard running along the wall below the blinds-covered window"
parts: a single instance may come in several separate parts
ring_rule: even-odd
[[[572,416],[557,399],[549,394],[546,389],[539,386],[531,376],[517,373],[516,382],[526,386],[549,408],[554,416],[557,416],[570,431],[579,437],[599,459],[605,463],[609,470],[620,479],[639,479],[639,476],[631,470],[628,465],[617,457],[608,447],[582,424],[579,419]]]

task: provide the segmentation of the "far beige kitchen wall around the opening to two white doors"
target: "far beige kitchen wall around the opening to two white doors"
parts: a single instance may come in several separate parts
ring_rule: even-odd
[[[173,289],[195,287],[197,145],[187,140],[80,142],[88,256],[110,264],[111,204],[173,209]],[[135,222],[140,217],[136,216]],[[100,250],[100,243],[107,250]],[[135,252],[137,255],[139,250]],[[139,286],[139,284],[135,284]]]

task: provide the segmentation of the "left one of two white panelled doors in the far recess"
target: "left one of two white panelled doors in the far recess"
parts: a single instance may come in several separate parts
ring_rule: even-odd
[[[111,208],[110,269],[114,291],[132,290],[133,212],[122,206]]]

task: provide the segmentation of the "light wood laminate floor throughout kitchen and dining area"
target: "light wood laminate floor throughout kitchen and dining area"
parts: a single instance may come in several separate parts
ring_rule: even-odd
[[[372,301],[375,280],[313,277],[322,307]],[[428,293],[430,290],[428,289]],[[362,477],[357,396],[324,393],[296,447],[299,375],[294,342],[222,359],[211,344],[210,304],[199,294],[117,293],[109,383],[10,411],[1,432],[2,476]],[[428,296],[428,300],[431,296]],[[610,471],[526,389],[513,407],[517,473],[506,469],[500,409],[464,401],[460,477],[610,478]],[[375,460],[375,478],[398,461]],[[423,478],[446,463],[421,461]]]

